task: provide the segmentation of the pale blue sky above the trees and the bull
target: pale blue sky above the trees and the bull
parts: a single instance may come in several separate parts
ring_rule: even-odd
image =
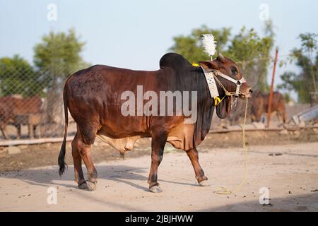
[[[47,20],[47,5],[52,3],[57,5],[57,21]],[[281,54],[299,47],[301,32],[318,32],[318,1],[310,0],[0,0],[0,57],[20,54],[32,62],[33,47],[42,35],[75,28],[86,41],[83,58],[90,64],[155,70],[172,46],[172,37],[187,35],[201,25],[230,27],[233,33],[245,25],[261,34],[261,4],[269,6]],[[278,68],[278,76],[284,70]]]

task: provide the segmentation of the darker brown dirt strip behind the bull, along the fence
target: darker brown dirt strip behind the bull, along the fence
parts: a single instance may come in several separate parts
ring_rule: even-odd
[[[280,131],[247,131],[246,143],[249,145],[293,144],[318,141],[318,129],[302,129],[281,134]],[[242,147],[242,131],[230,133],[209,133],[199,145],[199,151],[214,150],[215,148]],[[57,165],[57,157],[61,143],[45,143],[40,145],[19,145],[19,154],[8,155],[5,147],[0,147],[0,172],[29,169],[47,165]],[[118,160],[119,152],[98,138],[92,146],[94,162]],[[165,153],[180,152],[171,145],[167,145]],[[181,151],[182,152],[182,151]],[[143,138],[136,142],[134,149],[127,152],[126,159],[150,155],[151,139]],[[72,164],[71,142],[67,143],[66,162]]]

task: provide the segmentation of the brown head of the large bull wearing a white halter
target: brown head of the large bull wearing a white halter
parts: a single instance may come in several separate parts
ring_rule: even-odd
[[[216,114],[221,119],[230,114],[232,101],[235,97],[245,99],[251,96],[252,89],[244,80],[237,64],[231,59],[218,54],[218,57],[213,61],[201,61],[200,64],[206,71],[215,72],[216,79],[221,83],[221,85],[217,83],[218,93],[221,99],[224,97],[224,100],[216,106]],[[228,93],[225,92],[222,85],[231,95],[227,95]]]

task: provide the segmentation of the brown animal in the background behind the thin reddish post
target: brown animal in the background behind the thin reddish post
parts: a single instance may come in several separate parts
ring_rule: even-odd
[[[263,113],[268,113],[269,93],[262,94],[259,91],[254,92],[250,105],[252,121],[260,121],[261,115]],[[274,112],[276,112],[278,121],[283,121],[283,123],[288,121],[284,97],[277,91],[273,92],[273,99],[271,102],[271,114]]]

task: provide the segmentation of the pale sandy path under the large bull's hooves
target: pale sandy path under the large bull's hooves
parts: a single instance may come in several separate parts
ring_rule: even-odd
[[[204,150],[203,150],[204,151]],[[81,191],[73,166],[59,178],[57,167],[0,174],[1,211],[318,211],[318,143],[249,147],[247,184],[237,195],[214,194],[217,186],[235,188],[244,171],[244,155],[235,148],[200,153],[211,186],[200,187],[185,153],[168,153],[159,167],[161,194],[148,192],[150,157],[97,165],[98,190]],[[283,155],[270,156],[269,153]],[[57,204],[47,203],[47,189],[57,188]],[[269,188],[270,206],[259,204],[259,189]]]

